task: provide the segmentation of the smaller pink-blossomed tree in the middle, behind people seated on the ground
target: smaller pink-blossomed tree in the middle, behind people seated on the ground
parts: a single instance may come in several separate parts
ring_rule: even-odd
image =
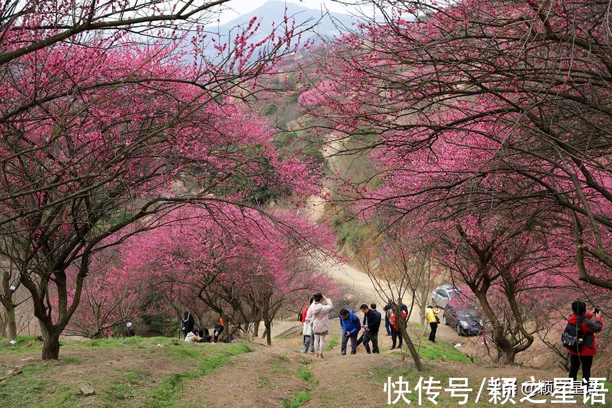
[[[332,234],[307,218],[227,205],[212,217],[197,207],[170,216],[129,243],[125,267],[154,277],[161,292],[172,285],[185,299],[200,299],[224,322],[255,324],[256,333],[263,321],[268,344],[283,306],[303,303],[313,291],[334,293],[316,272],[316,253],[330,253]]]

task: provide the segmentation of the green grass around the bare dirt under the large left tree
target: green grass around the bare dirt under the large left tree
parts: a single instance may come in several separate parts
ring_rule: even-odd
[[[22,339],[17,351],[27,356],[31,348],[23,346],[29,339]],[[90,350],[92,354],[104,355],[114,348],[148,348],[155,355],[165,355],[176,361],[176,368],[190,366],[190,371],[181,371],[157,380],[151,387],[151,373],[147,369],[140,369],[138,362],[133,369],[127,371],[109,371],[106,374],[97,374],[95,367],[87,371],[86,376],[74,377],[69,384],[62,384],[54,380],[50,374],[59,372],[69,373],[69,365],[85,364],[88,360],[67,357],[58,362],[27,363],[23,373],[11,377],[0,383],[0,407],[2,408],[119,408],[143,406],[149,408],[163,408],[177,406],[183,384],[186,380],[204,376],[214,369],[230,362],[233,355],[250,352],[252,349],[246,344],[218,344],[216,347],[206,345],[194,346],[183,341],[166,338],[136,338],[136,339],[99,339],[94,341],[66,341],[63,349]],[[89,344],[92,343],[92,344]],[[155,347],[158,343],[164,347]],[[176,344],[176,345],[175,345]],[[199,347],[198,347],[199,346]],[[95,348],[95,351],[91,349]],[[2,351],[0,350],[0,354]],[[186,365],[185,362],[188,362]],[[8,371],[11,366],[6,365]],[[193,369],[193,366],[196,368]],[[2,372],[4,374],[4,371]],[[79,395],[77,384],[84,382],[96,390],[96,395],[83,397]],[[142,404],[140,401],[145,401]]]

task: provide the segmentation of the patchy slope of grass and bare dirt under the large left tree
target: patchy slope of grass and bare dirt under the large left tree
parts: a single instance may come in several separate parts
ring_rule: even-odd
[[[15,346],[0,341],[0,367],[5,368],[0,373],[24,365],[22,374],[0,383],[3,408],[173,407],[178,405],[185,381],[230,363],[232,355],[251,351],[245,344],[193,344],[134,337],[65,341],[61,355],[69,357],[61,357],[59,362],[41,362],[37,360],[42,349],[39,342],[27,347],[31,338],[20,337],[17,341]],[[130,360],[129,368],[110,366],[112,363],[105,358],[111,355]],[[36,360],[21,361],[28,357]],[[155,359],[165,366],[163,371],[155,368]],[[95,388],[95,396],[78,394],[78,384],[83,382]]]

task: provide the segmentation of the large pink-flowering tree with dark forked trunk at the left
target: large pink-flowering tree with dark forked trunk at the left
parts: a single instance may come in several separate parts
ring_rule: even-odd
[[[192,2],[0,7],[13,17],[2,20],[0,48],[0,234],[15,250],[1,248],[32,296],[43,358],[58,358],[97,251],[185,202],[310,194],[312,163],[277,154],[267,125],[230,96],[294,50],[291,28],[250,43],[253,20],[217,45],[226,58],[214,62],[171,32],[138,44],[163,37],[155,21],[195,18],[204,9]]]

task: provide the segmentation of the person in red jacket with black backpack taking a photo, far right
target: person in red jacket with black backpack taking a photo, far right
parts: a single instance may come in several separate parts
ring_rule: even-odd
[[[570,373],[569,377],[576,380],[578,369],[582,365],[582,377],[587,382],[591,378],[591,365],[593,364],[593,356],[597,354],[595,348],[595,333],[602,331],[603,321],[602,312],[595,308],[592,311],[586,312],[586,303],[580,300],[572,302],[573,314],[567,319],[568,324],[579,325],[580,337],[583,339],[582,345],[578,351],[568,350],[570,352]],[[595,317],[593,319],[593,317]]]

